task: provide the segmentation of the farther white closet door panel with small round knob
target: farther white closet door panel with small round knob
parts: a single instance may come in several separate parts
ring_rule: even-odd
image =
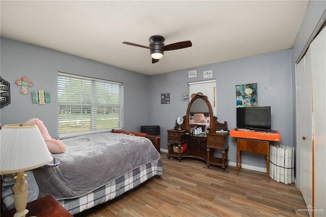
[[[300,190],[308,205],[312,205],[312,90],[311,50],[297,65]]]

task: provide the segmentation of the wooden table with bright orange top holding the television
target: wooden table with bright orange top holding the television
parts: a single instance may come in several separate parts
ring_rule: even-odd
[[[257,132],[230,130],[230,137],[236,138],[236,175],[242,165],[242,151],[250,151],[266,156],[266,179],[269,181],[269,142],[281,142],[281,134],[279,131],[273,132]]]

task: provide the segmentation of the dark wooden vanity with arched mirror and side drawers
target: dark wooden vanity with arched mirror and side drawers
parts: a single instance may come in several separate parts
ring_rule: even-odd
[[[216,165],[225,171],[229,163],[228,123],[218,122],[207,96],[192,94],[186,115],[178,117],[174,129],[167,131],[168,159],[196,158],[205,161],[208,168]],[[222,152],[222,157],[217,157],[217,152]]]

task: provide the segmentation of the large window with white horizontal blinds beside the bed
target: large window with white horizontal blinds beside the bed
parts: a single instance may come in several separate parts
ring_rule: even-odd
[[[122,128],[122,83],[58,73],[58,137]]]

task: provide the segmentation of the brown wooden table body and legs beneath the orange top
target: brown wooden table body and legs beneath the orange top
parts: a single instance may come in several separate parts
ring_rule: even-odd
[[[236,175],[238,175],[238,171],[241,169],[242,151],[250,151],[266,156],[266,180],[269,182],[269,141],[236,139]]]

